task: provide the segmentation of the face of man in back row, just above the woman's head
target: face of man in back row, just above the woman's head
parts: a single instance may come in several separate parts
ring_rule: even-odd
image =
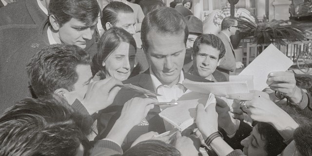
[[[131,35],[136,34],[136,20],[134,13],[118,13],[116,27],[123,28]]]

